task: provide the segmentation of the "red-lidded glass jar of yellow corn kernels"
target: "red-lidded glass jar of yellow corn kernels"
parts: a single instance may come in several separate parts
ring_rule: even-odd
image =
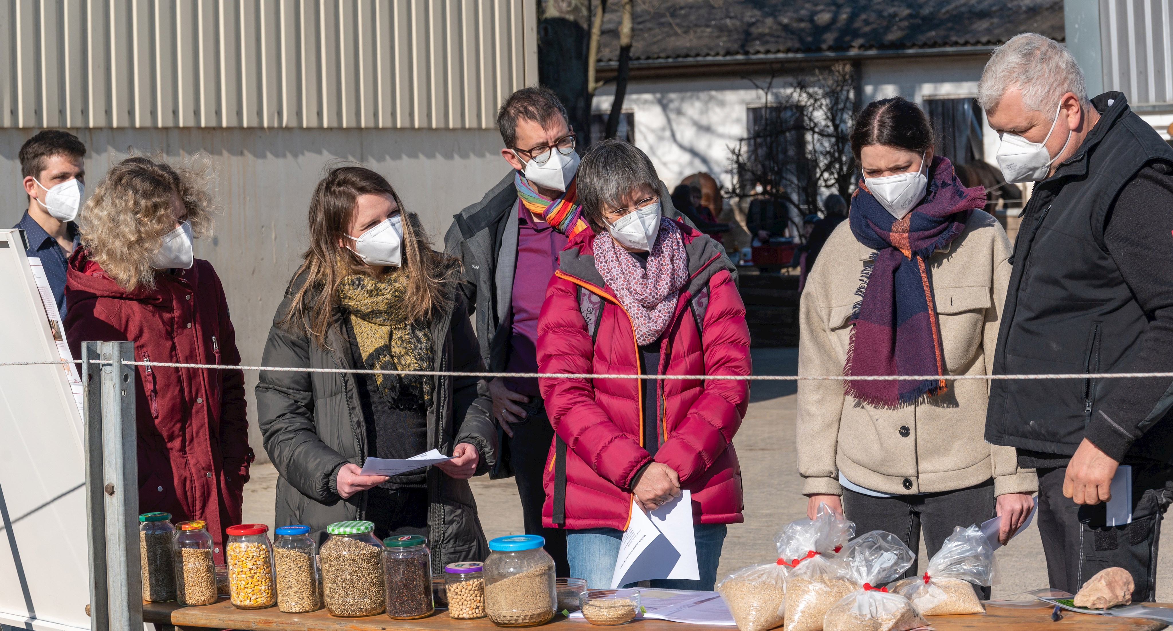
[[[269,527],[243,523],[228,529],[228,581],[232,606],[264,609],[277,602]]]

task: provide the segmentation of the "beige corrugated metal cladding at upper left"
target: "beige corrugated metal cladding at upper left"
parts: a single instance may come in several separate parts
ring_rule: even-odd
[[[0,0],[0,127],[490,129],[531,0]]]

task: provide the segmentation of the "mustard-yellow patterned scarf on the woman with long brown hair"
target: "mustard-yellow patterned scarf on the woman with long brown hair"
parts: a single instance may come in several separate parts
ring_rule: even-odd
[[[394,271],[375,279],[350,274],[338,286],[338,300],[351,312],[351,326],[368,371],[430,371],[432,330],[409,323],[404,313],[407,276]],[[384,399],[396,409],[432,406],[433,380],[423,375],[377,374]]]

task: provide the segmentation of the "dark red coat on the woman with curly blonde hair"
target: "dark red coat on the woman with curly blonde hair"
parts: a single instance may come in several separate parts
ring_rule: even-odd
[[[206,260],[127,291],[79,249],[66,281],[66,337],[135,342],[135,359],[238,366],[224,289]],[[224,529],[240,523],[249,481],[249,421],[240,371],[137,366],[138,509],[172,522],[204,520],[223,563]]]

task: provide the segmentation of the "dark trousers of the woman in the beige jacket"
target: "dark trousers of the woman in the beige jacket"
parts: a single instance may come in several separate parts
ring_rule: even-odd
[[[843,514],[855,522],[856,535],[873,530],[891,532],[914,555],[921,549],[923,530],[924,550],[933,558],[955,527],[981,525],[994,517],[994,480],[964,489],[897,497],[875,497],[845,488]],[[928,564],[928,558],[924,562]],[[916,563],[900,578],[911,576],[916,576]],[[979,598],[990,598],[990,588],[974,585],[974,591]]]

